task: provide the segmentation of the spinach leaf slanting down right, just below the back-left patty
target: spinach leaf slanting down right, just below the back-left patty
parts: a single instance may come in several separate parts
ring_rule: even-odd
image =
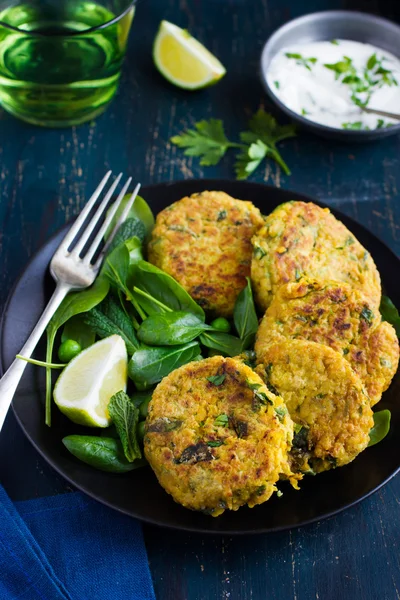
[[[204,311],[187,291],[173,277],[161,271],[154,265],[145,260],[139,261],[132,269],[132,279],[135,286],[146,292],[149,296],[159,302],[136,296],[137,301],[143,309],[153,315],[159,312],[167,312],[161,305],[168,307],[173,311],[190,312],[202,321],[205,321]]]

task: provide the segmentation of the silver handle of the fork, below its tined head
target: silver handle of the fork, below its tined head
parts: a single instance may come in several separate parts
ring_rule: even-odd
[[[57,283],[57,287],[48,305],[44,309],[42,316],[27,339],[24,347],[21,349],[20,354],[26,358],[30,358],[32,356],[32,353],[42,337],[47,325],[49,324],[50,319],[71,289],[72,288],[69,285]],[[14,359],[3,377],[0,379],[0,431],[3,427],[3,423],[8,409],[10,408],[11,401],[27,364],[28,363],[26,361],[19,358]]]

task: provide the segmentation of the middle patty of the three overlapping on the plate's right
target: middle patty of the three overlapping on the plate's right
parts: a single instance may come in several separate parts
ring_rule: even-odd
[[[282,338],[325,344],[364,383],[371,406],[389,387],[399,363],[394,328],[370,300],[345,283],[302,279],[279,288],[257,332],[255,350]]]

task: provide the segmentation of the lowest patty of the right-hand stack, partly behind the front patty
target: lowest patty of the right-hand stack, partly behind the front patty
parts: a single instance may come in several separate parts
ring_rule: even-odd
[[[258,354],[257,372],[284,399],[295,422],[292,468],[321,472],[343,466],[364,450],[373,427],[360,378],[322,344],[282,339]]]

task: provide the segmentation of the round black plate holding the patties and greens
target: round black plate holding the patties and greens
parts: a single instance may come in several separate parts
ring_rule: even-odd
[[[154,212],[158,212],[187,194],[205,189],[224,190],[236,198],[251,200],[265,214],[288,200],[311,200],[265,185],[219,180],[160,184],[144,188],[142,193]],[[361,225],[333,212],[372,253],[388,295],[400,306],[397,257]],[[47,267],[65,231],[66,228],[36,254],[10,295],[1,331],[3,367],[11,363],[22,347],[54,288]],[[37,355],[43,356],[43,350],[42,345]],[[51,429],[45,426],[42,376],[42,369],[29,366],[14,398],[13,409],[26,436],[47,462],[77,488],[116,510],[149,523],[203,533],[279,531],[326,518],[359,502],[384,485],[400,468],[400,444],[396,439],[400,432],[398,373],[379,405],[379,408],[389,408],[392,412],[391,431],[381,444],[367,449],[346,467],[306,478],[301,491],[282,485],[283,497],[273,497],[262,506],[226,512],[214,519],[175,504],[158,485],[150,468],[116,476],[75,460],[64,449],[61,438],[84,430],[68,421],[55,407],[53,426]]]

